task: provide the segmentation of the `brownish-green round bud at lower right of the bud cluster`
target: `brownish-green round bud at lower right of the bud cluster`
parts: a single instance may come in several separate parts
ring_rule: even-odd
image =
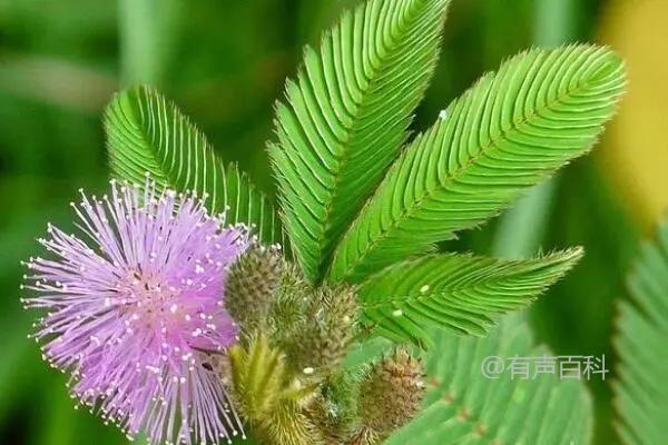
[[[404,348],[373,364],[360,387],[364,427],[382,441],[410,422],[424,396],[422,363]]]

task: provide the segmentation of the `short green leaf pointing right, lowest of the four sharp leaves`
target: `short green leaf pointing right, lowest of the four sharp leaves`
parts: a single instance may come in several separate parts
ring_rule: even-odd
[[[429,325],[484,335],[495,316],[528,306],[581,257],[582,249],[528,260],[426,256],[373,275],[357,296],[366,320],[390,339],[429,344]]]

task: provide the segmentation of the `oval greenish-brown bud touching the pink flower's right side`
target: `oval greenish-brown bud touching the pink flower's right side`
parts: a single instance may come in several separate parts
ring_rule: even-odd
[[[225,286],[225,308],[246,336],[266,324],[284,269],[283,258],[261,245],[250,247],[232,266]]]

